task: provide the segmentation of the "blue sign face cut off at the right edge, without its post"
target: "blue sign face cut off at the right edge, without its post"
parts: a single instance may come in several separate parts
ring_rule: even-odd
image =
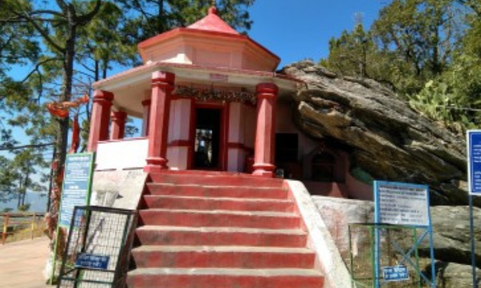
[[[469,193],[481,195],[481,130],[467,132]]]

